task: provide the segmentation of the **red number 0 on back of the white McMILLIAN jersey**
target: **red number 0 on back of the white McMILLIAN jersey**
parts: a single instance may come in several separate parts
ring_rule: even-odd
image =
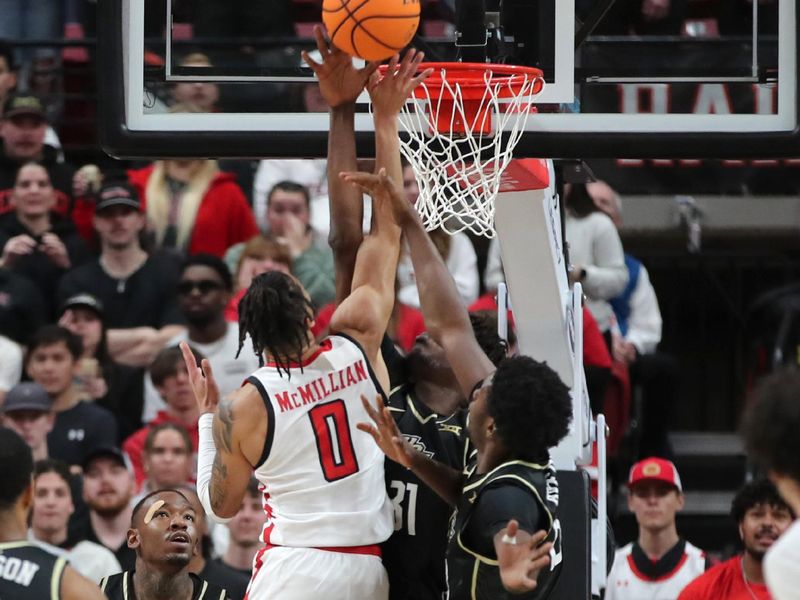
[[[350,423],[343,400],[331,400],[308,411],[317,442],[319,464],[326,481],[337,481],[358,472],[358,460],[350,438]]]

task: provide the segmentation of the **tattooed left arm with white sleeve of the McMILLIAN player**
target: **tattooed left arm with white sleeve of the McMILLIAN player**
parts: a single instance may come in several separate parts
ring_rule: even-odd
[[[197,495],[206,513],[224,523],[242,506],[266,438],[267,411],[253,386],[221,399],[208,360],[197,366],[188,344],[180,348],[200,409]]]

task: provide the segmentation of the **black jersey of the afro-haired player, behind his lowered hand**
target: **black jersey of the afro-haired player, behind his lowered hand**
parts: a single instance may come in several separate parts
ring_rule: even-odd
[[[561,525],[556,516],[558,507],[558,482],[551,465],[537,465],[524,461],[503,463],[489,473],[475,474],[476,457],[467,467],[467,480],[453,518],[450,543],[447,550],[447,572],[450,600],[542,600],[550,595],[561,572]],[[537,503],[544,515],[547,538],[553,542],[550,565],[542,569],[536,589],[527,594],[510,594],[500,581],[497,556],[483,556],[470,548],[465,531],[471,514],[480,504],[481,495],[504,486],[514,486],[529,493],[530,502]]]

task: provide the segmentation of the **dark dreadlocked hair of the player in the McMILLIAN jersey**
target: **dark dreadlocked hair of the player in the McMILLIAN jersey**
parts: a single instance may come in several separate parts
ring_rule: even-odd
[[[261,360],[266,352],[278,373],[300,363],[308,344],[308,320],[314,307],[302,286],[280,271],[268,271],[253,279],[239,303],[239,349],[250,336],[253,351]],[[301,367],[302,370],[302,367]]]

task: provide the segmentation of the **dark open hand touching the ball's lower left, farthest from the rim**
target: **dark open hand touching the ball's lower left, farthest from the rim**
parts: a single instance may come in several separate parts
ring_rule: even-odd
[[[370,76],[378,68],[378,63],[368,62],[364,67],[357,69],[353,65],[352,56],[325,40],[319,25],[314,27],[314,38],[322,62],[316,62],[305,50],[301,56],[317,76],[319,91],[325,102],[331,108],[354,103]]]

